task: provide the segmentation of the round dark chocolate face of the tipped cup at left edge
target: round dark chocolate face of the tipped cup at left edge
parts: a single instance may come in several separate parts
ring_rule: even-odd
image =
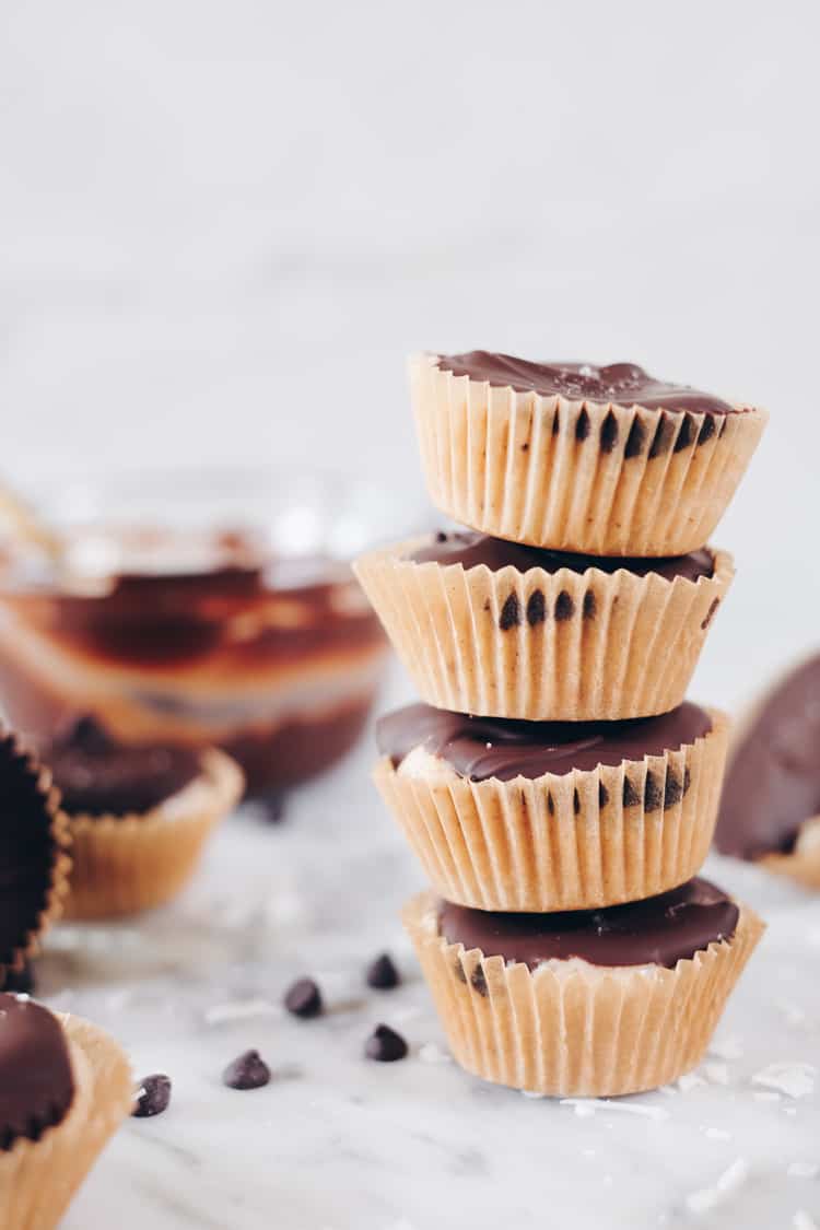
[[[39,776],[14,738],[0,736],[0,967],[12,966],[41,930],[60,854]]]

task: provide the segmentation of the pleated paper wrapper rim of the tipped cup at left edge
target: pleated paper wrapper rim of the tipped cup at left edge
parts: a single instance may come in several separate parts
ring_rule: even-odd
[[[69,856],[71,835],[68,819],[59,811],[59,798],[57,791],[52,787],[50,772],[41,768],[36,758],[20,744],[15,734],[0,731],[0,743],[2,744],[4,756],[9,759],[9,769],[15,774],[28,777],[34,790],[42,796],[43,811],[45,815],[50,817],[50,834],[54,846],[50,881],[48,886],[44,886],[43,908],[33,920],[33,925],[21,932],[20,946],[15,950],[14,959],[9,964],[0,963],[1,988],[7,972],[20,972],[25,962],[38,953],[43,935],[64,913],[65,899],[69,893],[69,873],[71,871],[71,859]]]

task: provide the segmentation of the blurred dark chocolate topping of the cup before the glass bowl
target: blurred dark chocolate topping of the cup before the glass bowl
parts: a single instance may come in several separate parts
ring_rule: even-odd
[[[202,772],[192,748],[125,745],[84,717],[44,753],[69,814],[148,812]]]

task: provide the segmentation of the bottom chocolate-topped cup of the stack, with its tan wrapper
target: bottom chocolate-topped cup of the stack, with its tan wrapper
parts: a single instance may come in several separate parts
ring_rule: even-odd
[[[422,893],[403,919],[456,1061],[553,1097],[638,1093],[695,1068],[763,930],[702,879],[580,914]]]

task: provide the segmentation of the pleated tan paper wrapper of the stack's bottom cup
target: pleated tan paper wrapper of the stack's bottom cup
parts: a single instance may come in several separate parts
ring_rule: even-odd
[[[674,969],[573,959],[531,972],[447,943],[429,893],[411,900],[403,919],[456,1061],[552,1097],[639,1093],[695,1068],[763,931],[741,907],[730,940]]]

